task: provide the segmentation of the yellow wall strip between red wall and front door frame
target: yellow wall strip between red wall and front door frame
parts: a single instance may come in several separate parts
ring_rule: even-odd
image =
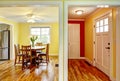
[[[93,60],[93,22],[92,18],[85,20],[85,57]]]

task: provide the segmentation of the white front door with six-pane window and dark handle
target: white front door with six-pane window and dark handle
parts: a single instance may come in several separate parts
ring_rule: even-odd
[[[109,75],[110,72],[110,18],[106,15],[95,22],[95,65]]]

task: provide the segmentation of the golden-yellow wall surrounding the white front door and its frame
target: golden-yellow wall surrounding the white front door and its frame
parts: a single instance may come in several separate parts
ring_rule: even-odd
[[[89,60],[93,61],[93,21],[96,17],[104,14],[105,12],[112,10],[113,18],[112,18],[112,76],[116,77],[116,9],[99,9],[96,12],[92,13],[85,20],[85,57]]]

